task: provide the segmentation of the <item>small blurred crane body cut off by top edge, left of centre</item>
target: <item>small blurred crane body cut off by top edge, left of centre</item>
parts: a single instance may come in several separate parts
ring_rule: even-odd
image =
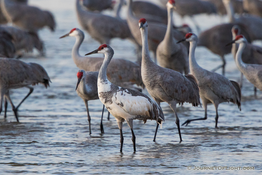
[[[102,11],[112,9],[114,2],[112,0],[83,0],[83,6],[91,11]]]

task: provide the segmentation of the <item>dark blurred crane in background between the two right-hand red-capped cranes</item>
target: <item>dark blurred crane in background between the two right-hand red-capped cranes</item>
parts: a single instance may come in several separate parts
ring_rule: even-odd
[[[239,23],[219,24],[199,34],[198,46],[204,46],[211,52],[221,57],[223,64],[216,67],[212,71],[222,68],[222,75],[225,75],[226,66],[226,60],[224,56],[231,53],[232,49],[232,47],[225,47],[225,45],[232,40],[230,31],[235,24],[238,24],[238,26],[241,28],[241,34],[248,36],[248,41],[251,42],[252,40],[249,37],[249,29],[247,29],[247,26]]]

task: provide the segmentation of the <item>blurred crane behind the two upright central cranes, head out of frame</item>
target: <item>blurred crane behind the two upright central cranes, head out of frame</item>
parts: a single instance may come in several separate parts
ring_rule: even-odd
[[[127,22],[128,26],[130,28],[130,31],[132,35],[134,36],[137,43],[139,43],[140,46],[142,46],[142,39],[141,39],[141,33],[139,28],[137,28],[137,21],[139,21],[139,18],[135,17],[132,12],[132,3],[133,0],[128,0],[128,10],[127,10]],[[165,33],[167,31],[167,25],[157,23],[157,22],[148,22],[150,24],[150,28],[148,29],[148,47],[149,50],[154,53],[155,62],[156,62],[156,50],[157,46],[160,44],[161,41],[163,41],[165,37]],[[183,38],[183,35],[180,31],[177,31],[176,29],[172,30],[174,38],[177,40],[180,40]],[[189,45],[185,45],[189,49]]]

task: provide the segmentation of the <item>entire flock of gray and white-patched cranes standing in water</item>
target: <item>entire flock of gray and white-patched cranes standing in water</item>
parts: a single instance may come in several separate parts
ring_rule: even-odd
[[[78,28],[61,36],[75,37],[72,59],[81,69],[77,72],[76,92],[84,100],[89,133],[91,116],[88,101],[100,99],[109,114],[116,118],[120,129],[120,152],[123,148],[122,125],[126,121],[132,132],[133,149],[136,151],[136,137],[133,120],[156,120],[157,129],[164,122],[161,102],[169,104],[176,118],[180,142],[180,120],[176,104],[190,103],[204,108],[203,118],[192,118],[183,122],[188,125],[194,120],[207,119],[207,104],[215,106],[215,127],[218,122],[218,106],[232,102],[241,110],[241,86],[243,75],[256,88],[262,90],[262,48],[253,45],[254,40],[262,40],[260,0],[159,0],[165,8],[147,1],[133,0],[75,0],[77,18],[81,27],[98,41],[101,46],[86,55],[102,53],[105,57],[84,57],[79,48],[84,41],[84,32]],[[127,5],[126,20],[121,18],[122,6]],[[56,22],[52,13],[29,6],[26,0],[1,0],[0,23],[0,113],[7,100],[10,102],[17,122],[18,107],[33,92],[32,85],[51,82],[45,69],[39,64],[25,63],[14,59],[35,48],[44,55],[44,43],[38,36],[43,27],[55,30]],[[185,8],[186,6],[186,8]],[[115,9],[116,16],[104,15],[105,9]],[[17,10],[19,9],[19,10]],[[194,20],[197,14],[227,14],[229,23],[219,24],[199,36],[191,28],[174,23],[173,13]],[[235,16],[235,12],[239,14]],[[246,14],[249,13],[249,14]],[[12,26],[6,25],[11,23]],[[137,48],[137,62],[113,58],[114,50],[110,41],[113,38],[129,39]],[[232,41],[233,38],[233,41]],[[213,71],[203,69],[195,59],[197,46],[205,46],[222,58],[223,64]],[[92,46],[89,46],[92,47]],[[151,59],[150,51],[154,58]],[[225,77],[224,55],[232,53],[241,72],[240,85]],[[222,67],[222,75],[215,73]],[[190,73],[190,74],[189,74]],[[17,107],[14,106],[9,90],[26,87],[29,93]],[[142,93],[146,88],[152,99]],[[100,123],[101,133],[104,128]]]

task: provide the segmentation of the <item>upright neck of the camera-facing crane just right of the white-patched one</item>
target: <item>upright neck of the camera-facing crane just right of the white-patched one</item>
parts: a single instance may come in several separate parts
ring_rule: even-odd
[[[141,36],[142,36],[142,65],[141,69],[143,69],[144,66],[155,64],[151,58],[150,53],[148,49],[148,31],[147,27],[141,28]]]

